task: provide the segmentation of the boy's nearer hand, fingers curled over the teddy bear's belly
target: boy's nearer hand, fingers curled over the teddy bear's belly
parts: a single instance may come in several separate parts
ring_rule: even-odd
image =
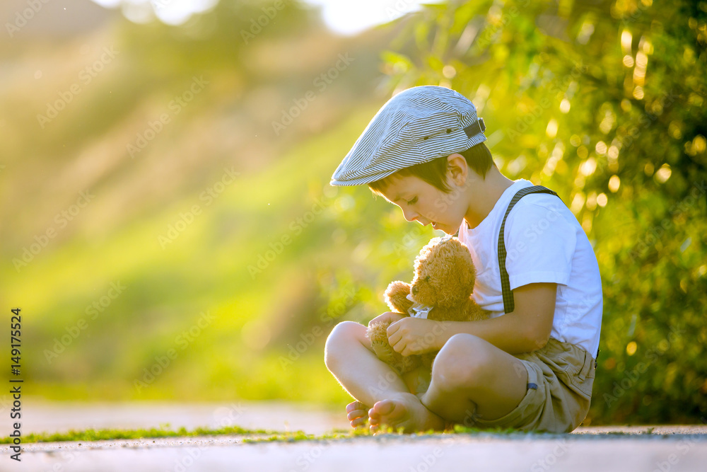
[[[407,316],[388,326],[386,333],[393,350],[409,356],[441,349],[439,334],[444,329],[439,321]]]

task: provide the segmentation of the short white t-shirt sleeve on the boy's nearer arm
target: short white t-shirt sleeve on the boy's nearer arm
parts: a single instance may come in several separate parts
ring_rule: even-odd
[[[566,285],[577,244],[576,231],[577,226],[553,205],[520,200],[506,219],[510,289],[541,282]]]

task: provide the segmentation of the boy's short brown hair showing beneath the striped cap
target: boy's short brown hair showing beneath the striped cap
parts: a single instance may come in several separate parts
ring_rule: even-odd
[[[466,151],[461,151],[457,154],[464,156],[464,159],[467,160],[469,167],[481,175],[481,178],[486,178],[486,172],[491,169],[491,166],[496,167],[496,163],[493,162],[493,157],[491,156],[491,151],[489,151],[489,148],[486,147],[484,142],[480,142],[476,146],[472,146]],[[395,176],[405,177],[407,175],[414,175],[415,177],[424,180],[426,183],[433,185],[433,187],[436,187],[445,193],[450,193],[452,189],[449,188],[446,183],[447,157],[448,156],[442,156],[437,159],[433,159],[432,161],[402,168],[391,175],[387,175],[380,180],[375,180],[369,183],[368,188],[370,188],[370,191],[373,192],[373,195],[380,195],[381,197],[384,197],[380,191],[385,190],[388,184],[390,184],[392,178],[395,178]]]

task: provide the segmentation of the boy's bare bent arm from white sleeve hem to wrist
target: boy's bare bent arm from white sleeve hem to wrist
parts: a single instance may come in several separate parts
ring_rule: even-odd
[[[479,336],[509,354],[543,347],[550,338],[557,284],[522,285],[513,290],[515,310],[480,321],[446,321],[437,336],[437,349],[457,333]]]

